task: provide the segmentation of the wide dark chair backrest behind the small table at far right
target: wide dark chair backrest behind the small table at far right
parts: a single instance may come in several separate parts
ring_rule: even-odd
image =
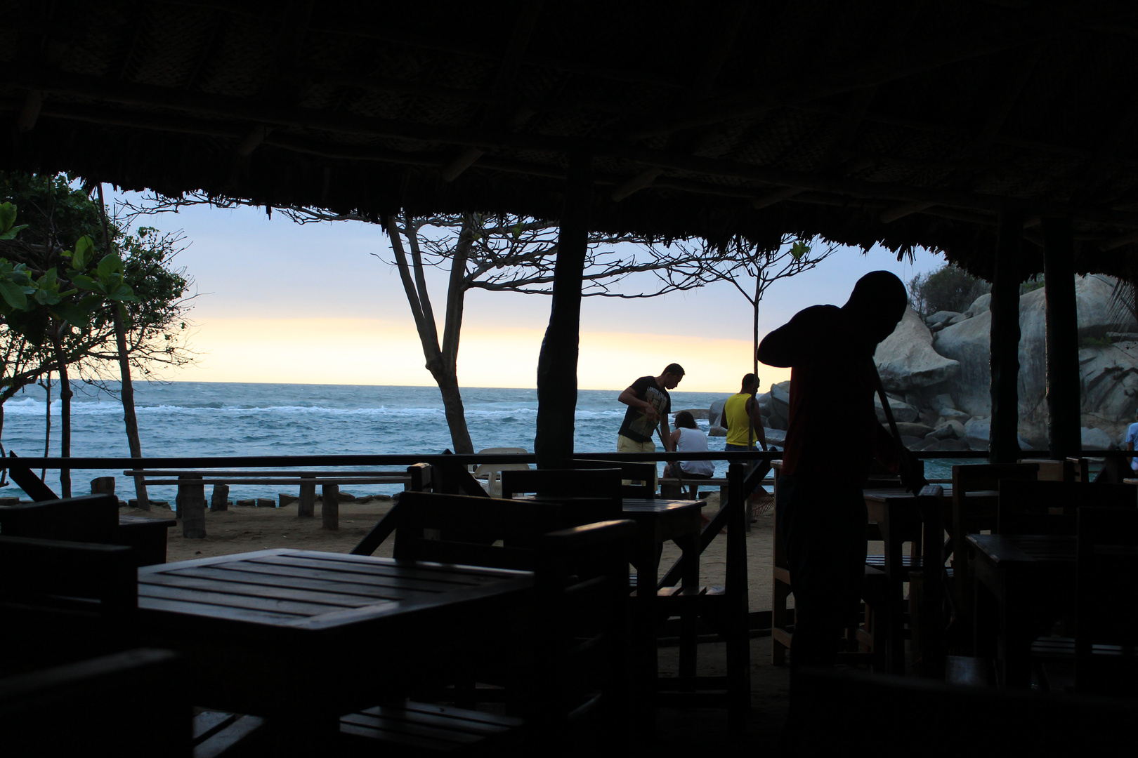
[[[1004,480],[999,483],[999,534],[1075,534],[1085,506],[1138,509],[1138,486]]]

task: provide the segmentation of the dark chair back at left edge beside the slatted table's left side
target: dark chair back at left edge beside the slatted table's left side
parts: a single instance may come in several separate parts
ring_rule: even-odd
[[[66,664],[127,647],[138,567],[122,545],[0,536],[0,670]]]

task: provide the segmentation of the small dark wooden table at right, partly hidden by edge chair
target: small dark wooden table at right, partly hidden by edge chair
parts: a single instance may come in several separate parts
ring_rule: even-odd
[[[1047,611],[1074,603],[1075,538],[970,534],[967,544],[976,583],[976,653],[996,653],[1005,686],[1029,688],[1037,627],[1050,620]]]

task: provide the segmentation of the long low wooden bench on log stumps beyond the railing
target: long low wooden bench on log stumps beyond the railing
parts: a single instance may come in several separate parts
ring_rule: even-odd
[[[123,475],[141,476],[147,485],[178,486],[175,515],[182,519],[182,536],[204,538],[205,526],[205,485],[212,484],[213,495],[209,500],[211,510],[229,508],[229,488],[234,484],[275,484],[300,488],[300,501],[297,503],[297,516],[312,518],[315,516],[316,485],[321,488],[321,517],[327,530],[339,528],[340,486],[361,484],[403,484],[412,483],[411,475],[404,472],[369,470],[369,472],[314,472],[314,470],[187,470],[187,469],[127,469]]]

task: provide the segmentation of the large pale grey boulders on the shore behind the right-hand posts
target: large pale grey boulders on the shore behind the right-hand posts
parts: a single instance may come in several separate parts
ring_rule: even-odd
[[[1085,450],[1122,441],[1138,409],[1138,326],[1112,324],[1114,281],[1077,277],[1079,373]],[[987,450],[991,416],[990,294],[963,314],[922,319],[907,310],[874,359],[898,431],[915,450]],[[1020,445],[1047,448],[1046,301],[1044,290],[1020,298]],[[759,395],[766,426],[785,430],[790,383]],[[711,418],[718,414],[712,409]],[[877,417],[884,411],[877,402]],[[840,419],[835,419],[840,423]],[[769,436],[769,433],[768,433]],[[781,436],[781,435],[776,435]]]

